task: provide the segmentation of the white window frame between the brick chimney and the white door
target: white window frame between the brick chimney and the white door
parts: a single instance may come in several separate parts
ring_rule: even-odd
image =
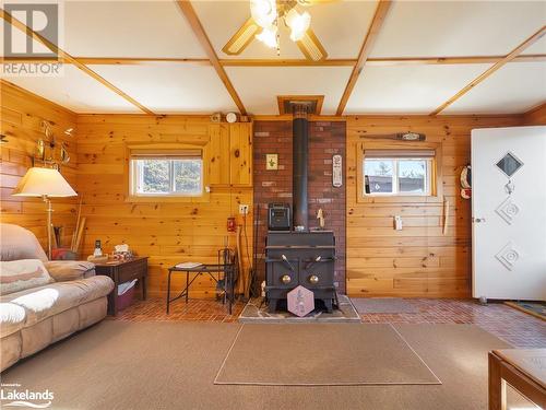
[[[366,161],[389,161],[393,164],[392,169],[392,192],[366,192]],[[400,178],[399,178],[399,162],[400,161],[425,161],[425,189],[423,192],[406,192],[400,191]],[[385,157],[364,157],[363,159],[363,195],[365,197],[430,197],[432,196],[432,157],[405,157],[405,156],[385,156]]]

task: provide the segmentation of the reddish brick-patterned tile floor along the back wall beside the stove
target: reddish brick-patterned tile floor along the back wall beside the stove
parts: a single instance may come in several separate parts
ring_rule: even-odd
[[[519,312],[502,303],[482,306],[473,300],[406,300],[417,306],[414,314],[361,314],[364,323],[379,324],[473,324],[482,327],[517,348],[546,348],[546,323]],[[164,298],[136,301],[119,313],[116,320],[147,321],[216,321],[234,323],[244,308],[236,303],[233,315],[226,306],[214,300],[176,301],[170,305],[170,314],[165,312]]]

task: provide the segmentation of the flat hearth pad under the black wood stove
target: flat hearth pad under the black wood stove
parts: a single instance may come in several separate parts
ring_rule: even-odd
[[[247,303],[241,314],[239,321],[241,324],[286,324],[286,323],[360,323],[360,316],[351,301],[345,295],[337,295],[340,308],[332,313],[316,309],[305,317],[297,317],[289,312],[277,311],[275,313],[268,312],[268,305],[263,298],[253,298]]]

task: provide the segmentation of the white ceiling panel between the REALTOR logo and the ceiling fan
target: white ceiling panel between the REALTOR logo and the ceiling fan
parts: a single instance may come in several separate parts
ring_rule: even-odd
[[[175,1],[69,1],[64,48],[75,57],[206,57]]]

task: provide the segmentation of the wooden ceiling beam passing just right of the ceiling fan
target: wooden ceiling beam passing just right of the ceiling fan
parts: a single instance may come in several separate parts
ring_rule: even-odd
[[[376,13],[373,14],[373,19],[371,20],[370,27],[368,28],[366,38],[364,39],[360,51],[358,52],[356,65],[355,67],[353,67],[353,72],[348,78],[347,85],[345,86],[345,91],[343,92],[343,95],[341,97],[340,105],[337,106],[336,115],[342,115],[343,112],[345,110],[345,106],[347,105],[348,98],[351,97],[351,93],[353,92],[356,85],[356,81],[358,80],[358,77],[360,75],[360,72],[364,69],[364,66],[368,60],[368,56],[371,52],[373,44],[376,43],[376,39],[379,35],[379,31],[383,25],[383,22],[387,17],[387,13],[389,12],[390,8],[391,8],[390,0],[379,0]]]

